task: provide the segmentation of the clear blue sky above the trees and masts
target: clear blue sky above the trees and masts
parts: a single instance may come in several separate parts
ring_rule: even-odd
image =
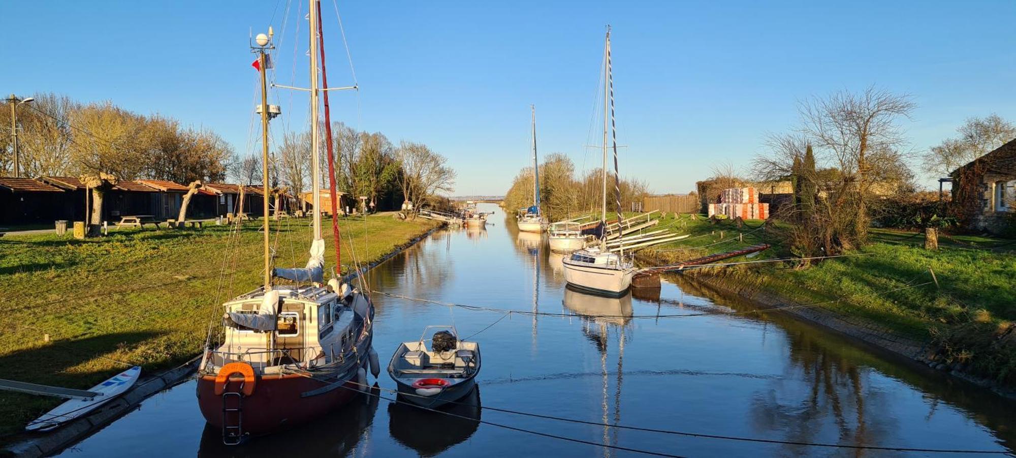
[[[274,25],[278,82],[296,65],[306,85],[305,3],[290,5],[283,31],[284,0],[4,2],[0,92],[112,100],[212,128],[248,154],[249,32]],[[715,162],[747,165],[767,132],[797,124],[799,100],[832,91],[913,95],[903,125],[917,152],[970,116],[1016,120],[1016,2],[824,3],[340,2],[362,90],[332,93],[333,116],[444,154],[456,194],[500,194],[528,164],[535,104],[541,154],[589,169],[611,23],[621,173],[655,192],[693,189]],[[345,85],[331,0],[322,9],[329,82]],[[272,98],[303,128],[306,94]]]

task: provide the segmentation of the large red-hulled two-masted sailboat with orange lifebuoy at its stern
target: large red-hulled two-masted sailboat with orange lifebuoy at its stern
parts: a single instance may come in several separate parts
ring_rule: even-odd
[[[321,174],[318,138],[318,97],[324,94],[325,122],[332,166],[328,116],[327,73],[324,38],[320,35],[319,0],[310,0],[310,102],[311,186],[313,235],[310,260],[304,269],[272,269],[269,253],[269,219],[264,219],[264,279],[261,287],[224,304],[223,329],[209,332],[197,374],[197,398],[201,413],[221,430],[223,442],[239,444],[250,435],[273,433],[313,420],[338,407],[365,387],[368,363],[377,377],[377,353],[371,348],[374,304],[361,289],[332,278],[324,282],[325,241],[321,235]],[[271,31],[257,37],[252,46],[261,73],[261,105],[267,106],[266,52],[271,49]],[[319,45],[321,46],[319,48]],[[320,52],[320,65],[318,53]],[[324,88],[318,84],[318,72]],[[337,88],[336,88],[337,89]],[[268,159],[267,109],[260,110],[262,163]],[[264,167],[264,182],[269,182]],[[334,173],[329,170],[329,175]],[[330,186],[332,229],[336,193]],[[264,193],[265,215],[268,195]],[[336,263],[339,256],[335,244]],[[335,269],[336,273],[338,267]],[[276,284],[275,279],[290,282]],[[280,282],[281,283],[281,282]]]

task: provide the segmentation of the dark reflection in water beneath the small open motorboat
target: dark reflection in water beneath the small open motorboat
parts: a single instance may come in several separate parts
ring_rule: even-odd
[[[398,401],[388,404],[388,434],[420,456],[444,452],[469,439],[480,427],[480,386],[438,412],[405,403],[401,395]]]

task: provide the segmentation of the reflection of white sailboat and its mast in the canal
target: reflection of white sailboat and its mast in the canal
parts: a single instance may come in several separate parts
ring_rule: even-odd
[[[604,445],[616,445],[618,443],[618,430],[607,426],[609,423],[621,422],[621,386],[624,382],[624,359],[625,341],[628,340],[628,332],[631,330],[632,316],[632,293],[629,291],[621,297],[604,297],[582,293],[572,287],[565,287],[564,305],[581,317],[583,326],[582,334],[589,339],[599,352],[600,377],[602,379],[600,389],[600,409],[602,416],[600,421],[604,425]],[[611,418],[610,408],[610,371],[607,369],[607,356],[610,350],[611,332],[614,331],[618,341],[618,367],[617,380],[614,385],[614,418]],[[609,449],[604,449],[605,452]],[[606,453],[605,453],[605,456]]]

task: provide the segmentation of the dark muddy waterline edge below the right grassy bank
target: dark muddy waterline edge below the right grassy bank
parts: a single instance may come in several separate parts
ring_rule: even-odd
[[[647,263],[658,264],[658,260],[654,260],[650,255],[638,254],[638,257]],[[924,366],[925,369],[939,370],[965,383],[988,389],[999,396],[1016,400],[1016,390],[1014,389],[936,361],[934,358],[938,349],[933,348],[930,342],[900,335],[859,317],[846,316],[828,308],[808,306],[764,287],[745,285],[737,280],[722,279],[708,274],[693,274],[686,278],[721,295],[736,295],[751,301],[761,309],[784,313],[812,326],[836,333],[851,342],[915,367]]]

